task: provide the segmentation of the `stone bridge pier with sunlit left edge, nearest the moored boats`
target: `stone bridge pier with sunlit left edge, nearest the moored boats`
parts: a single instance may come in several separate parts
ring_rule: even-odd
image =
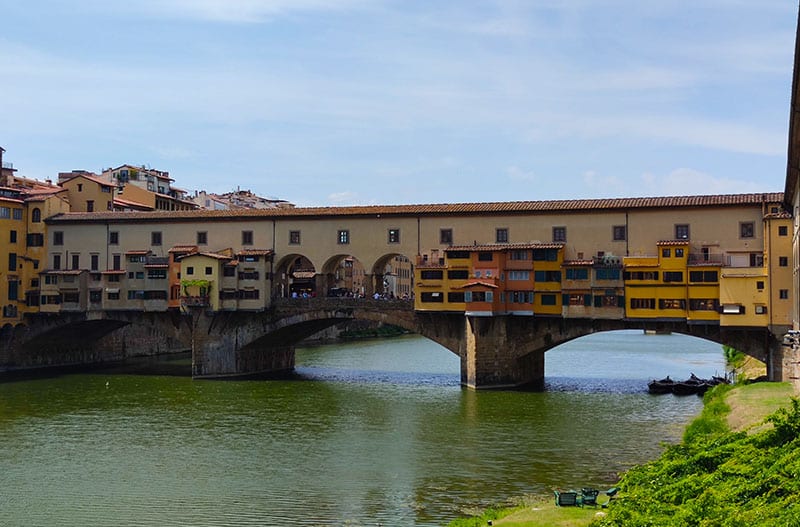
[[[528,352],[512,317],[467,317],[461,384],[473,389],[544,388],[544,349]]]

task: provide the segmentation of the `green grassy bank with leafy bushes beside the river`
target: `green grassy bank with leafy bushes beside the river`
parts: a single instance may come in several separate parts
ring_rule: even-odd
[[[800,525],[800,404],[793,395],[786,383],[715,388],[683,442],[625,473],[619,498],[606,509],[559,508],[542,499],[449,525]]]

